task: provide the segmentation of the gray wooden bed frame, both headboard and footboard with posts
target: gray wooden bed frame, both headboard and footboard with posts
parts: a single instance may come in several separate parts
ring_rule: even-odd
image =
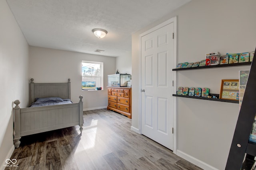
[[[34,78],[29,84],[29,104],[35,98],[60,97],[70,99],[70,79],[67,83],[34,83]],[[78,103],[55,106],[39,106],[20,108],[20,100],[14,104],[14,144],[20,146],[20,138],[26,135],[62,129],[65,127],[80,126],[82,134],[83,96],[79,96]]]

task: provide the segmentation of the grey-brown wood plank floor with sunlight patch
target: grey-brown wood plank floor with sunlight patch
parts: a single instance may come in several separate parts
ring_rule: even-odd
[[[131,119],[98,109],[79,126],[21,138],[5,170],[201,170],[171,150],[130,130]]]

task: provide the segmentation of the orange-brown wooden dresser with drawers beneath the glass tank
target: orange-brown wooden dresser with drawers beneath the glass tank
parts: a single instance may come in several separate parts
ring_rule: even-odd
[[[113,110],[132,119],[132,88],[107,87],[108,110]]]

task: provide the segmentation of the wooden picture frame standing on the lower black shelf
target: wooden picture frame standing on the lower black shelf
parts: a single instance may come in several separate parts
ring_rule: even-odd
[[[221,80],[220,99],[239,100],[239,80]]]

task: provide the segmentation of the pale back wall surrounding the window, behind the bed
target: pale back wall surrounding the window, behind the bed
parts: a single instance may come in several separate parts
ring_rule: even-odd
[[[98,61],[104,63],[104,90],[81,90],[82,61]],[[79,101],[84,96],[84,110],[106,108],[108,105],[108,74],[116,72],[116,58],[90,55],[63,50],[31,47],[29,53],[29,78],[34,82],[71,82],[71,100]]]

